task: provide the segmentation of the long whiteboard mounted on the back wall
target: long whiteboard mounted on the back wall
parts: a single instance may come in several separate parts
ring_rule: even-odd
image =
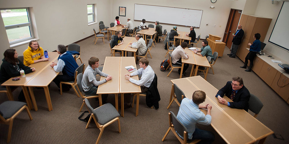
[[[200,27],[203,10],[134,4],[134,20]]]

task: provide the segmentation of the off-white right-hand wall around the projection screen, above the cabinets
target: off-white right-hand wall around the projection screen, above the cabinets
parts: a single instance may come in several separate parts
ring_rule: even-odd
[[[279,58],[287,61],[287,63],[289,62],[289,51],[280,48],[278,46],[275,46],[271,43],[268,42],[269,37],[271,35],[271,32],[273,30],[273,27],[275,25],[275,22],[277,20],[277,17],[279,15],[280,9],[282,7],[283,2],[279,1],[278,3],[276,3],[276,1],[274,2],[274,4],[272,4],[271,1],[269,0],[260,0],[257,7],[256,7],[256,11],[255,11],[255,15],[256,16],[262,16],[265,18],[272,18],[270,27],[268,29],[267,35],[264,39],[264,43],[266,43],[266,47],[264,48],[264,50],[270,52],[271,54],[278,56]],[[288,17],[289,18],[289,17]],[[288,27],[284,28],[284,29],[288,29]],[[265,35],[261,35],[261,37],[264,37]],[[284,35],[286,37],[286,35]],[[283,62],[286,63],[286,62]]]

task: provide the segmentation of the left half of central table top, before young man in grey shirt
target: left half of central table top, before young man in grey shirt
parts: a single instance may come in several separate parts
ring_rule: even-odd
[[[112,76],[112,79],[108,82],[98,86],[97,94],[115,94],[119,93],[119,68],[120,68],[120,57],[106,57],[104,66],[102,69],[103,73],[107,73]],[[106,77],[101,77],[100,80]]]

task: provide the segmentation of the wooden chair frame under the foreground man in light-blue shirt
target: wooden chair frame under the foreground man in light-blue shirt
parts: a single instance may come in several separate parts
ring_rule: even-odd
[[[164,139],[166,138],[166,136],[168,135],[168,132],[170,132],[170,130],[175,134],[175,136],[177,137],[177,139],[182,143],[182,144],[187,144],[187,132],[184,131],[184,139],[181,139],[181,137],[179,137],[179,135],[177,134],[174,125],[172,123],[172,119],[171,119],[171,113],[168,113],[168,118],[170,121],[170,127],[168,128],[168,130],[166,131],[166,134],[164,135],[164,137],[162,138],[162,141],[164,141]],[[190,144],[195,144],[198,143],[199,141],[201,141],[200,139],[196,139],[194,141],[192,141]]]

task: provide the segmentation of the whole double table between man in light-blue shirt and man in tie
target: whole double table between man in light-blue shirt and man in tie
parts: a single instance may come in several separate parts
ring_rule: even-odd
[[[210,103],[213,107],[211,110],[211,126],[226,143],[255,143],[258,140],[260,140],[259,143],[264,143],[266,137],[273,134],[272,130],[245,110],[232,109],[219,103],[215,97],[218,90],[201,76],[173,79],[171,82],[177,84],[189,99],[192,99],[192,94],[195,90],[202,90],[206,93],[204,104]],[[174,94],[173,91],[172,86],[170,101]],[[226,96],[224,98],[231,102]],[[205,114],[207,113],[205,110],[201,111]]]

